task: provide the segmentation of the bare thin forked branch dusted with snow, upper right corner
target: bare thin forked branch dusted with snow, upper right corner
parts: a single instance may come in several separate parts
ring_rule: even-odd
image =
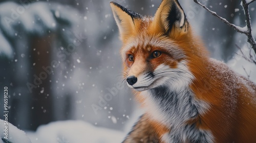
[[[197,0],[194,0],[194,2],[198,5],[200,5],[201,7],[203,7],[204,9],[206,9],[208,12],[210,12],[212,15],[218,17],[219,19],[221,19],[224,23],[226,23],[229,27],[233,28],[234,30],[236,30],[237,32],[243,33],[247,36],[247,41],[250,43],[254,53],[256,54],[256,42],[254,40],[254,38],[252,37],[252,33],[251,33],[251,21],[250,21],[250,14],[249,14],[249,10],[248,10],[248,5],[253,3],[256,0],[251,0],[250,2],[246,3],[246,0],[242,0],[242,6],[244,9],[244,13],[245,13],[245,17],[246,17],[246,26],[241,28],[239,26],[236,26],[232,23],[230,23],[228,20],[226,20],[225,18],[219,16],[216,12],[211,11],[210,9],[208,9],[205,5],[201,4],[200,2],[198,2]]]

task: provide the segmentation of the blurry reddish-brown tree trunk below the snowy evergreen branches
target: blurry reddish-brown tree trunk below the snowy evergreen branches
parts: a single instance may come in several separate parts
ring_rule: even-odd
[[[43,67],[51,67],[51,37],[34,38],[31,43],[32,60],[34,66],[34,83],[35,76],[44,77],[42,73],[47,74],[46,79],[41,79],[41,84],[32,89],[32,113],[31,129],[35,130],[39,125],[47,124],[53,120],[52,94],[51,94],[51,74],[47,73]],[[48,70],[50,71],[50,69]]]

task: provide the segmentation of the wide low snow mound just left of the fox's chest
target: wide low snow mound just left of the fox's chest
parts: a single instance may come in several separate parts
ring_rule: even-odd
[[[28,136],[32,143],[114,143],[121,142],[125,134],[83,121],[58,121],[40,126],[35,133],[28,132]]]

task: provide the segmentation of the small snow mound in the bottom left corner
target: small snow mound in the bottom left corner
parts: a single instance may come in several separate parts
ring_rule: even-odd
[[[7,123],[7,122],[6,122]],[[5,126],[8,126],[8,139],[5,138]],[[30,139],[27,137],[26,133],[22,130],[19,130],[17,127],[13,126],[11,123],[5,125],[5,121],[0,119],[0,136],[1,138],[5,138],[6,140],[13,143],[30,143]],[[3,143],[3,140],[0,140],[0,143]]]

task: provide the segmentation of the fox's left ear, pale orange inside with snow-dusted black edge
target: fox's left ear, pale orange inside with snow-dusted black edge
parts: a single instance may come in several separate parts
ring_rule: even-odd
[[[110,2],[110,6],[119,28],[120,38],[122,41],[124,41],[126,37],[131,35],[131,33],[133,33],[135,30],[135,20],[137,18],[141,18],[142,16],[115,2]]]

